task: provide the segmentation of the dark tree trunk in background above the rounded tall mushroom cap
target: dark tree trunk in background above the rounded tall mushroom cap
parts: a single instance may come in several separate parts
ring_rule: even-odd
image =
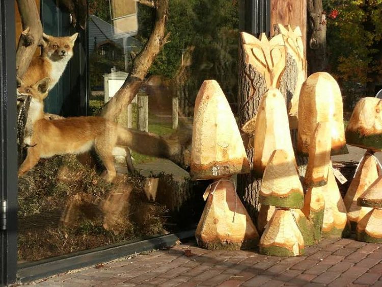
[[[307,59],[309,73],[324,71],[326,56],[326,15],[322,0],[308,0]]]

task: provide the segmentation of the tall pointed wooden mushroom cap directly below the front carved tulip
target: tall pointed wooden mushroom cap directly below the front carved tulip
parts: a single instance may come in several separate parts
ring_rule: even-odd
[[[297,166],[285,100],[278,89],[269,89],[261,98],[256,116],[255,135],[253,170],[256,176],[262,176],[270,156],[276,149],[285,150],[288,161]]]

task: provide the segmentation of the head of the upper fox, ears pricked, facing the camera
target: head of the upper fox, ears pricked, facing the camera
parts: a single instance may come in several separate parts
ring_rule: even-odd
[[[78,33],[68,37],[53,37],[43,33],[43,56],[48,57],[51,61],[61,61],[63,59],[69,61],[73,56],[73,46],[77,36]]]

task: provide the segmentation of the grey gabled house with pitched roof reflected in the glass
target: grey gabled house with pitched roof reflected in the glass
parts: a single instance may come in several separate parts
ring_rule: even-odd
[[[125,33],[94,15],[89,15],[89,53],[98,51],[101,57],[114,60],[117,56],[129,54],[131,50],[141,46],[141,43],[131,37],[137,35],[137,31]]]

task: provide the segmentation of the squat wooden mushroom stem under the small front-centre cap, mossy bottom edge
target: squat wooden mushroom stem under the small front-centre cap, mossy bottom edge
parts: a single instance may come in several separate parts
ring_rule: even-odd
[[[304,254],[304,239],[289,209],[277,209],[261,236],[260,254],[296,256]]]

